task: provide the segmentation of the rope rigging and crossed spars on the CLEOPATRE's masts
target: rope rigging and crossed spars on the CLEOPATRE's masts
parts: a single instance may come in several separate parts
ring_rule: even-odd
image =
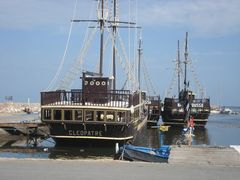
[[[78,0],[75,1],[74,5],[74,10],[73,10],[73,15],[72,15],[72,20],[70,23],[70,28],[69,28],[69,33],[68,33],[68,38],[67,38],[67,43],[66,47],[64,50],[63,57],[61,59],[60,65],[57,69],[56,74],[54,75],[53,79],[51,80],[47,90],[68,90],[71,88],[74,80],[78,79],[82,72],[82,64],[84,62],[84,59],[86,59],[86,55],[89,51],[89,48],[92,44],[92,41],[94,37],[97,34],[97,30],[100,29],[100,54],[99,54],[99,73],[100,75],[103,75],[103,59],[104,59],[104,52],[107,49],[107,46],[109,44],[109,40],[111,41],[112,44],[112,76],[113,79],[116,80],[116,60],[118,60],[119,64],[121,65],[123,71],[125,72],[128,82],[131,82],[131,90],[136,90],[139,87],[139,83],[137,82],[137,75],[135,70],[133,71],[133,66],[134,63],[131,63],[130,60],[130,49],[129,52],[127,53],[126,47],[123,43],[123,40],[120,36],[119,33],[119,28],[135,28],[138,29],[139,27],[136,26],[136,23],[133,22],[127,22],[127,21],[119,21],[119,6],[118,6],[118,0],[112,0],[112,5],[113,8],[112,11],[108,11],[108,0],[98,0],[97,6],[98,6],[98,11],[97,11],[97,20],[75,20],[76,16],[76,9],[77,9],[77,2]],[[92,14],[93,7],[91,8],[91,13]],[[130,11],[130,10],[129,10]],[[137,10],[136,10],[137,11]],[[90,19],[89,16],[89,19]],[[130,20],[130,18],[129,18]],[[83,46],[80,50],[79,56],[76,58],[74,63],[70,66],[69,70],[67,73],[62,76],[61,71],[64,67],[64,62],[66,59],[67,51],[69,49],[69,44],[70,44],[70,39],[71,39],[71,34],[72,34],[72,29],[73,29],[73,23],[74,22],[87,22],[88,27],[87,31],[85,32],[85,37],[84,37],[84,43]],[[90,26],[92,23],[98,23],[96,26]],[[121,24],[125,24],[126,26],[122,26]],[[104,40],[104,29],[106,29],[108,36],[106,38],[106,41]],[[129,35],[130,38],[130,35]],[[130,48],[130,41],[128,44]],[[136,52],[136,51],[135,51]],[[127,55],[128,54],[128,55]],[[135,55],[136,53],[134,53]],[[115,60],[115,57],[116,60]],[[114,85],[113,89],[116,88],[116,85]]]

